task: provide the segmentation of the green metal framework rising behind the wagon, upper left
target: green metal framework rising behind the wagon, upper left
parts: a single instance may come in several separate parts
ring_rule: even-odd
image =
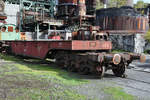
[[[35,26],[38,22],[54,17],[55,0],[20,0],[20,25],[19,29],[23,31],[23,27]]]

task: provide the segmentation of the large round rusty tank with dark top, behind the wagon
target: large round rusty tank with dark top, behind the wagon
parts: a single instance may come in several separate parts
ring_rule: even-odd
[[[133,8],[108,8],[97,11],[96,24],[101,30],[122,31],[124,33],[144,33],[149,29],[148,18],[135,12]]]

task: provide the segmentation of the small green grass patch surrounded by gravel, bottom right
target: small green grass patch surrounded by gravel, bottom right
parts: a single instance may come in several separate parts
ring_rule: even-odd
[[[107,87],[104,92],[112,95],[114,100],[136,100],[134,96],[127,94],[120,87]]]

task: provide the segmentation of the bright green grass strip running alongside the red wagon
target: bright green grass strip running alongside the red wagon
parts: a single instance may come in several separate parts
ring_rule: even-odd
[[[57,68],[54,65],[27,64],[14,56],[1,55],[1,57],[7,61],[19,62],[17,64],[13,64],[13,66],[16,66],[19,70],[7,72],[7,74],[30,74],[45,79],[54,79],[54,81],[68,85],[79,85],[88,82],[87,80],[80,79],[76,76],[76,74],[68,73],[67,71]]]

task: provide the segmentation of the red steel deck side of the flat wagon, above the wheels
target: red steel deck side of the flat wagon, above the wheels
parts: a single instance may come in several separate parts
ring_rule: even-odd
[[[44,59],[49,50],[110,50],[109,41],[12,41],[12,52]]]

